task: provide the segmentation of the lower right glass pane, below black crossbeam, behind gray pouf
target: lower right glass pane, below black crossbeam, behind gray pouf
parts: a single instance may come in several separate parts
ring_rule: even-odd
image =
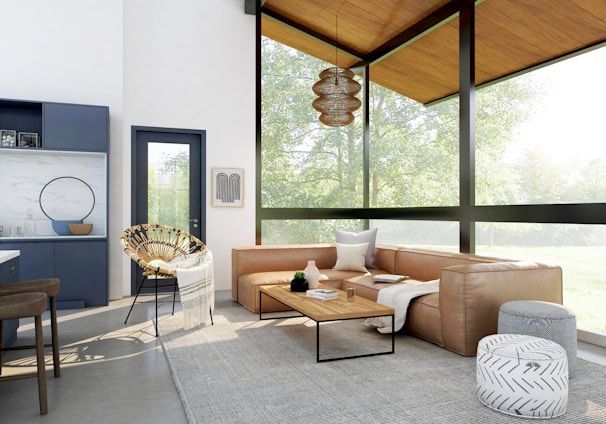
[[[476,252],[562,267],[577,327],[606,333],[605,225],[478,223]]]

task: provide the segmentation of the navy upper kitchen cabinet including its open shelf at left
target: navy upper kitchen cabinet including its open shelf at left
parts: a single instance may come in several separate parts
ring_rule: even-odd
[[[0,99],[0,147],[107,152],[109,108]]]

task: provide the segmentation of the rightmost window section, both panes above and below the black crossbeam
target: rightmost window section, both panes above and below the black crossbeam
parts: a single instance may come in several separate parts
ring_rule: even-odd
[[[478,119],[478,204],[606,201],[604,67],[606,47],[478,90],[478,115],[496,112]],[[477,253],[560,265],[578,327],[606,333],[605,225],[479,222],[476,233]]]

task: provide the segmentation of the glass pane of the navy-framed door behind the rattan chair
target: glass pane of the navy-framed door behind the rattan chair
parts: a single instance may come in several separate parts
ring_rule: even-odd
[[[148,143],[149,223],[189,231],[189,144]]]

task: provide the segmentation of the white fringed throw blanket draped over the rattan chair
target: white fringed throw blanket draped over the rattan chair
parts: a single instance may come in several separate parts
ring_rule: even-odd
[[[184,329],[206,323],[211,309],[215,309],[213,255],[210,250],[206,251],[199,264],[177,268],[177,283],[183,305]]]

